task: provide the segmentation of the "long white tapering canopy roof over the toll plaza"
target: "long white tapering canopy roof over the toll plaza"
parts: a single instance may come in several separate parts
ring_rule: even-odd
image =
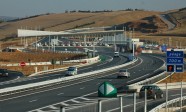
[[[70,35],[86,35],[86,34],[109,34],[113,35],[115,33],[123,33],[123,30],[107,30],[107,31],[60,31],[60,32],[53,32],[53,31],[38,31],[38,30],[25,30],[25,29],[18,29],[18,37],[34,37],[34,36],[48,36],[48,35],[62,35],[62,36],[70,36]]]

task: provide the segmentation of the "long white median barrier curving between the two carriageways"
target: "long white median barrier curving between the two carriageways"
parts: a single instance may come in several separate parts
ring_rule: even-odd
[[[95,75],[99,75],[100,73],[109,72],[109,71],[112,71],[115,69],[125,67],[127,65],[135,63],[137,60],[138,60],[138,58],[134,59],[132,62],[125,63],[123,65],[110,67],[110,68],[106,68],[103,70],[97,70],[97,71],[93,71],[93,72],[83,73],[83,74],[79,74],[79,75],[75,75],[75,76],[63,77],[63,78],[59,78],[59,79],[53,79],[50,81],[43,81],[43,82],[38,82],[38,83],[32,83],[32,84],[26,84],[26,85],[21,85],[21,86],[16,86],[16,87],[9,87],[9,88],[0,89],[0,95],[3,96],[3,95],[15,94],[15,93],[20,93],[20,92],[25,92],[28,90],[35,90],[38,88],[49,87],[49,86],[53,86],[56,84],[61,84],[61,83],[65,83],[68,81],[77,80],[80,78],[88,78],[92,75],[95,76]]]

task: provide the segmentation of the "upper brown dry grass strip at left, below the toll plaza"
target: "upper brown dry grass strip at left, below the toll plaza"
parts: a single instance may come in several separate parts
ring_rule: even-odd
[[[53,52],[0,52],[0,61],[5,63],[19,63],[19,62],[48,62],[52,59],[66,60],[66,59],[78,59],[85,56],[84,54],[73,53],[53,53]]]

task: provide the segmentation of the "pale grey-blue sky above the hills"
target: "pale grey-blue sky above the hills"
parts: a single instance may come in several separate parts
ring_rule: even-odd
[[[186,7],[186,0],[0,0],[0,16],[26,17],[65,10],[122,10],[139,8],[166,11]]]

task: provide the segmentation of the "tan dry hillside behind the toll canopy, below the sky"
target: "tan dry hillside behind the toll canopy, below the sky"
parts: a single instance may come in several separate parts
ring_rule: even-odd
[[[62,31],[82,27],[101,27],[137,21],[152,15],[154,11],[114,11],[100,13],[62,13],[42,15],[17,22],[0,24],[0,38],[15,37],[18,28]]]

